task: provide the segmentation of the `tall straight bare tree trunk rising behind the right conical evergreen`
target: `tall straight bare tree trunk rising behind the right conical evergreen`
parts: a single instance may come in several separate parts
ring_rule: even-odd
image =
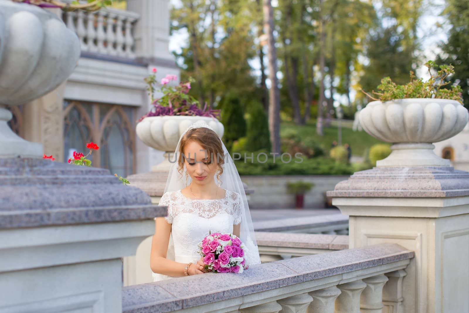
[[[273,9],[270,0],[263,0],[264,30],[268,40],[269,78],[269,133],[273,153],[280,153],[280,92],[277,79],[277,51],[273,37]]]

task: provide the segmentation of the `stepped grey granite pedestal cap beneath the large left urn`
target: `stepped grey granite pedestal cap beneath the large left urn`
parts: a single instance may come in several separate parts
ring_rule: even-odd
[[[109,170],[42,160],[0,159],[0,229],[130,221],[166,207]]]

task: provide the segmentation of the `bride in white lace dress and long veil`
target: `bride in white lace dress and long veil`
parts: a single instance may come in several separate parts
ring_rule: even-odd
[[[204,122],[196,122],[182,134],[174,156],[159,201],[168,214],[155,219],[153,280],[207,273],[197,244],[210,231],[240,237],[246,264],[260,264],[246,194],[220,137]]]

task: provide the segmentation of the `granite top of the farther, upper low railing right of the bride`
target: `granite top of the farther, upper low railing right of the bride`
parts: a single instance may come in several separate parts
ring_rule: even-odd
[[[314,228],[326,225],[343,225],[348,228],[348,215],[339,213],[315,216],[291,217],[279,220],[255,221],[255,231],[284,231],[304,228]]]

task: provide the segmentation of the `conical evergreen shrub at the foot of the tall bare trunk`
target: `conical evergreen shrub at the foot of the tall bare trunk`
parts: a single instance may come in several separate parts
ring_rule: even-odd
[[[260,149],[270,151],[269,124],[267,115],[265,115],[264,109],[260,104],[254,105],[251,109],[246,137],[246,149],[248,151],[257,151]]]

